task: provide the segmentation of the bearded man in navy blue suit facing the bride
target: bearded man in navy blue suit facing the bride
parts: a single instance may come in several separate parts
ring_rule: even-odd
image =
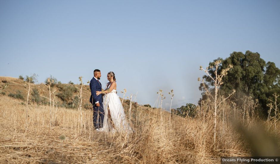
[[[103,98],[102,94],[96,95],[96,91],[101,91],[101,83],[99,82],[101,77],[101,72],[99,69],[94,70],[94,77],[91,79],[89,87],[91,89],[91,97],[89,101],[93,106],[93,125],[94,128],[100,130],[103,126],[103,119],[104,119],[104,110],[103,110]],[[97,118],[97,114],[99,113],[99,117]],[[97,123],[99,125],[97,126]]]

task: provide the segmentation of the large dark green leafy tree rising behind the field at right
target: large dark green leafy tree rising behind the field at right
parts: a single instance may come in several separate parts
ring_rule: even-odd
[[[233,89],[236,93],[232,96],[232,100],[239,100],[243,96],[251,96],[253,99],[258,99],[262,106],[264,114],[267,113],[268,99],[272,98],[272,94],[276,92],[280,94],[280,70],[273,62],[265,62],[260,58],[258,52],[246,51],[233,52],[230,57],[222,60],[219,68],[217,69],[220,75],[221,70],[229,65],[233,68],[228,71],[228,74],[223,78],[223,84],[220,87],[220,95],[228,96]],[[216,61],[214,60],[214,61]],[[214,61],[209,63],[208,71],[212,78],[215,79]],[[204,75],[205,86],[210,92],[213,92],[214,83],[211,77]],[[203,91],[201,100],[206,99],[205,89],[203,84],[200,84],[199,89]],[[199,103],[200,103],[199,102]],[[241,101],[236,101],[237,105],[241,105]]]

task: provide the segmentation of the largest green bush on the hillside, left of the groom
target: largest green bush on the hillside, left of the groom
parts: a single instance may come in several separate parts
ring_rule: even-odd
[[[63,100],[67,105],[72,104],[74,100],[74,93],[78,91],[77,88],[67,84],[58,84],[60,93],[57,93],[57,97]]]

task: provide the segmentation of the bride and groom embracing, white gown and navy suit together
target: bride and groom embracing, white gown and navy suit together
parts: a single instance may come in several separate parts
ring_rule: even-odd
[[[99,82],[101,71],[94,70],[94,77],[90,81],[93,105],[93,125],[97,131],[130,131],[131,127],[125,119],[125,111],[119,96],[116,94],[117,84],[114,72],[108,72],[105,89]]]

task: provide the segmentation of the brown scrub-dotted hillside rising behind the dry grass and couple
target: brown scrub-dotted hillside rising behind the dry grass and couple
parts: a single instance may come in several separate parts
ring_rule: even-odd
[[[57,100],[57,106],[68,107],[77,109],[78,97],[80,95],[81,85],[77,84],[53,84],[51,85],[51,92],[55,91],[55,98]],[[0,76],[0,94],[4,96],[13,97],[13,95],[19,95],[17,100],[20,103],[26,103],[28,93],[28,83],[18,78],[3,77]],[[21,95],[21,96],[20,96]],[[91,91],[89,85],[83,85],[82,89],[82,105],[84,109],[92,109],[89,102]],[[51,95],[53,97],[53,95]],[[14,96],[15,97],[15,96]],[[46,97],[46,98],[44,98]],[[49,86],[46,84],[34,84],[30,83],[30,95],[29,103],[49,104]],[[122,98],[120,98],[122,100]],[[129,103],[129,100],[124,100],[125,103]]]

